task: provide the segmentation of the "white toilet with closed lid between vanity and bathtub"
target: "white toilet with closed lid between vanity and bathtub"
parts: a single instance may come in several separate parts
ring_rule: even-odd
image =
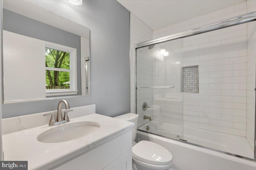
[[[150,141],[140,141],[136,143],[137,114],[127,113],[115,117],[125,121],[135,123],[132,129],[132,168],[134,170],[171,170],[172,154],[156,143]]]

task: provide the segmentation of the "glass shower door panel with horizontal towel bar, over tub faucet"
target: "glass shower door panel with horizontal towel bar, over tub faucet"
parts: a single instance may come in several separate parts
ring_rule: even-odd
[[[183,139],[182,48],[180,38],[136,49],[138,129]]]

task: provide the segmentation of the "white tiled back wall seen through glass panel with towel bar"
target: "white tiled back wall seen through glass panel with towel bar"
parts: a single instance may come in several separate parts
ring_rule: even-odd
[[[153,90],[153,119],[178,125],[183,125],[182,93],[180,91],[182,44],[182,39],[175,39],[156,44],[152,51],[154,56],[153,85],[174,86],[174,88]],[[165,49],[169,55],[160,55],[160,49]],[[182,129],[177,129],[175,133],[182,134]]]

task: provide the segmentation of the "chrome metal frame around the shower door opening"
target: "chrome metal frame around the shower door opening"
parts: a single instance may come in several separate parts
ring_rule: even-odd
[[[256,21],[256,12],[251,12],[251,13],[244,14],[244,15],[241,15],[241,16],[236,16],[234,18],[230,18],[230,19],[219,21],[219,22],[211,23],[209,25],[204,25],[202,27],[197,27],[195,29],[191,29],[191,30],[188,30],[188,31],[184,31],[184,32],[181,32],[181,33],[174,34],[174,35],[169,35],[169,36],[166,36],[166,37],[162,37],[162,38],[158,38],[158,39],[138,43],[135,47],[135,57],[136,57],[136,59],[135,59],[135,61],[136,61],[136,63],[135,63],[135,66],[136,66],[136,69],[135,69],[135,72],[136,72],[136,74],[135,74],[135,78],[136,78],[135,79],[135,84],[136,84],[135,85],[135,90],[136,90],[135,91],[135,96],[136,96],[136,98],[135,98],[135,102],[136,102],[135,110],[136,110],[136,114],[137,114],[137,49],[138,48],[146,47],[148,45],[163,43],[165,41],[170,41],[170,40],[174,40],[174,39],[190,37],[192,35],[206,33],[206,32],[214,31],[214,30],[217,30],[217,29],[231,27],[231,26],[234,26],[234,25],[240,25],[242,23],[248,23],[248,22],[252,22],[252,21]],[[256,88],[254,89],[254,91],[255,91],[255,96],[256,96]],[[255,104],[255,106],[256,106],[256,104]],[[254,114],[255,113],[256,113],[256,107],[255,107]],[[143,131],[143,130],[140,130],[140,129],[137,129],[137,130]],[[151,132],[148,132],[148,131],[143,131],[143,132],[150,133],[150,134],[153,134],[153,135],[158,135],[158,134],[151,133]],[[158,136],[166,137],[166,136],[163,136],[163,135],[158,135]],[[239,158],[243,158],[243,159],[246,159],[246,160],[252,160],[252,161],[256,162],[256,116],[255,116],[255,120],[254,120],[254,158],[248,158],[248,157],[245,157],[245,156],[240,156],[240,155],[232,154],[232,153],[229,153],[229,152],[224,152],[222,150],[217,150],[217,149],[212,149],[212,148],[209,148],[209,147],[204,147],[204,146],[197,145],[197,144],[194,144],[194,143],[189,143],[189,142],[184,141],[184,140],[178,140],[178,139],[174,139],[174,138],[170,138],[170,137],[166,137],[166,138],[169,138],[169,139],[172,139],[172,140],[175,140],[175,141],[180,141],[180,142],[183,142],[183,143],[187,143],[187,144],[190,144],[190,145],[194,145],[194,146],[197,146],[197,147],[202,147],[202,148],[206,148],[206,149],[210,149],[210,150],[215,150],[215,151],[218,151],[218,152],[221,152],[221,153],[224,153],[224,154],[228,154],[228,155],[232,155],[232,156],[236,156],[236,157],[239,157]]]

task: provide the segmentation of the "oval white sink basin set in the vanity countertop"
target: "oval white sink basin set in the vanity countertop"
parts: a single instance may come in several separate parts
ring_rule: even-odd
[[[38,135],[37,140],[42,143],[59,143],[71,141],[90,135],[100,128],[100,124],[93,121],[82,121],[74,123],[64,123],[53,127]]]

